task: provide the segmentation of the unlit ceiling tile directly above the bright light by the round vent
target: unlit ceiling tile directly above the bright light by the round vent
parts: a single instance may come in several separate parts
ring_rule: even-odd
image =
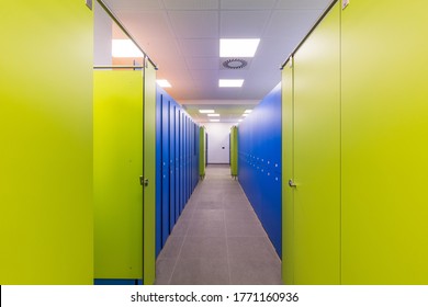
[[[221,12],[222,38],[258,38],[269,21],[270,11]]]

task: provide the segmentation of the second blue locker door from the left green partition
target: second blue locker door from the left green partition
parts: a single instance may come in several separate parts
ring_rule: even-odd
[[[162,247],[169,236],[169,101],[162,95]]]

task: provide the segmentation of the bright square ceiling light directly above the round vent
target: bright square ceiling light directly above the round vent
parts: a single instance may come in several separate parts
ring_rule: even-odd
[[[260,38],[221,38],[219,57],[254,57]]]

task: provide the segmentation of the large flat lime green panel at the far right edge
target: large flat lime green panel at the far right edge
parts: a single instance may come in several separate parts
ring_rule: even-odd
[[[428,284],[428,1],[342,12],[342,283]]]

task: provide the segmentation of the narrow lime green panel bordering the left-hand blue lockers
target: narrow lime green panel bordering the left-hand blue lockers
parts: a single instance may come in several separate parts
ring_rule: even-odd
[[[144,284],[155,283],[156,262],[156,69],[144,69]]]

